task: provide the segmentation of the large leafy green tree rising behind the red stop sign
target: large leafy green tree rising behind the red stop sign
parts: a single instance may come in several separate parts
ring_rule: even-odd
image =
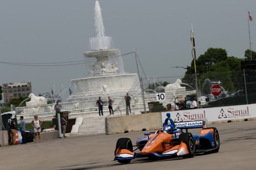
[[[234,92],[239,87],[237,79],[241,74],[241,61],[237,57],[227,56],[227,51],[222,48],[208,48],[207,51],[196,59],[196,70],[198,84],[201,86],[201,93],[209,94],[209,80],[222,80],[222,87],[229,92]],[[185,73],[182,81],[195,87],[194,60],[191,67]],[[200,88],[200,87],[199,87]]]

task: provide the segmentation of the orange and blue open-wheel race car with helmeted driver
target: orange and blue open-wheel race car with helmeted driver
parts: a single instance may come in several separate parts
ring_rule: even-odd
[[[120,138],[116,142],[115,158],[119,163],[130,163],[132,159],[148,158],[192,158],[196,153],[214,153],[220,148],[219,133],[215,127],[207,128],[207,120],[177,122],[166,114],[163,129],[155,133],[144,133],[144,138],[132,145],[129,138]],[[188,129],[202,128],[200,135],[188,133]],[[186,132],[183,132],[183,129]],[[133,150],[133,147],[137,147]],[[135,152],[139,150],[139,152]]]

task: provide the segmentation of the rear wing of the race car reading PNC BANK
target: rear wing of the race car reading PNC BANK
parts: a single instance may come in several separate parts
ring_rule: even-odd
[[[174,122],[179,129],[207,128],[207,119],[190,122]]]

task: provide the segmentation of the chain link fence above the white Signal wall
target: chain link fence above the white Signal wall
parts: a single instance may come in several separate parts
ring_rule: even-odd
[[[211,87],[218,84],[221,93],[214,96]],[[147,77],[143,79],[145,103],[150,112],[175,110],[175,103],[187,109],[190,99],[198,97],[199,108],[256,103],[256,70],[208,72],[175,77]],[[165,100],[157,102],[156,93],[165,93]],[[152,106],[153,104],[153,106]]]

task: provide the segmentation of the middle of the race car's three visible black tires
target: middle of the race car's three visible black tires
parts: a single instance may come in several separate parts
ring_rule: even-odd
[[[196,153],[196,145],[193,135],[191,133],[182,133],[179,135],[179,145],[184,142],[188,147],[188,154],[183,155],[183,158],[193,158]]]

